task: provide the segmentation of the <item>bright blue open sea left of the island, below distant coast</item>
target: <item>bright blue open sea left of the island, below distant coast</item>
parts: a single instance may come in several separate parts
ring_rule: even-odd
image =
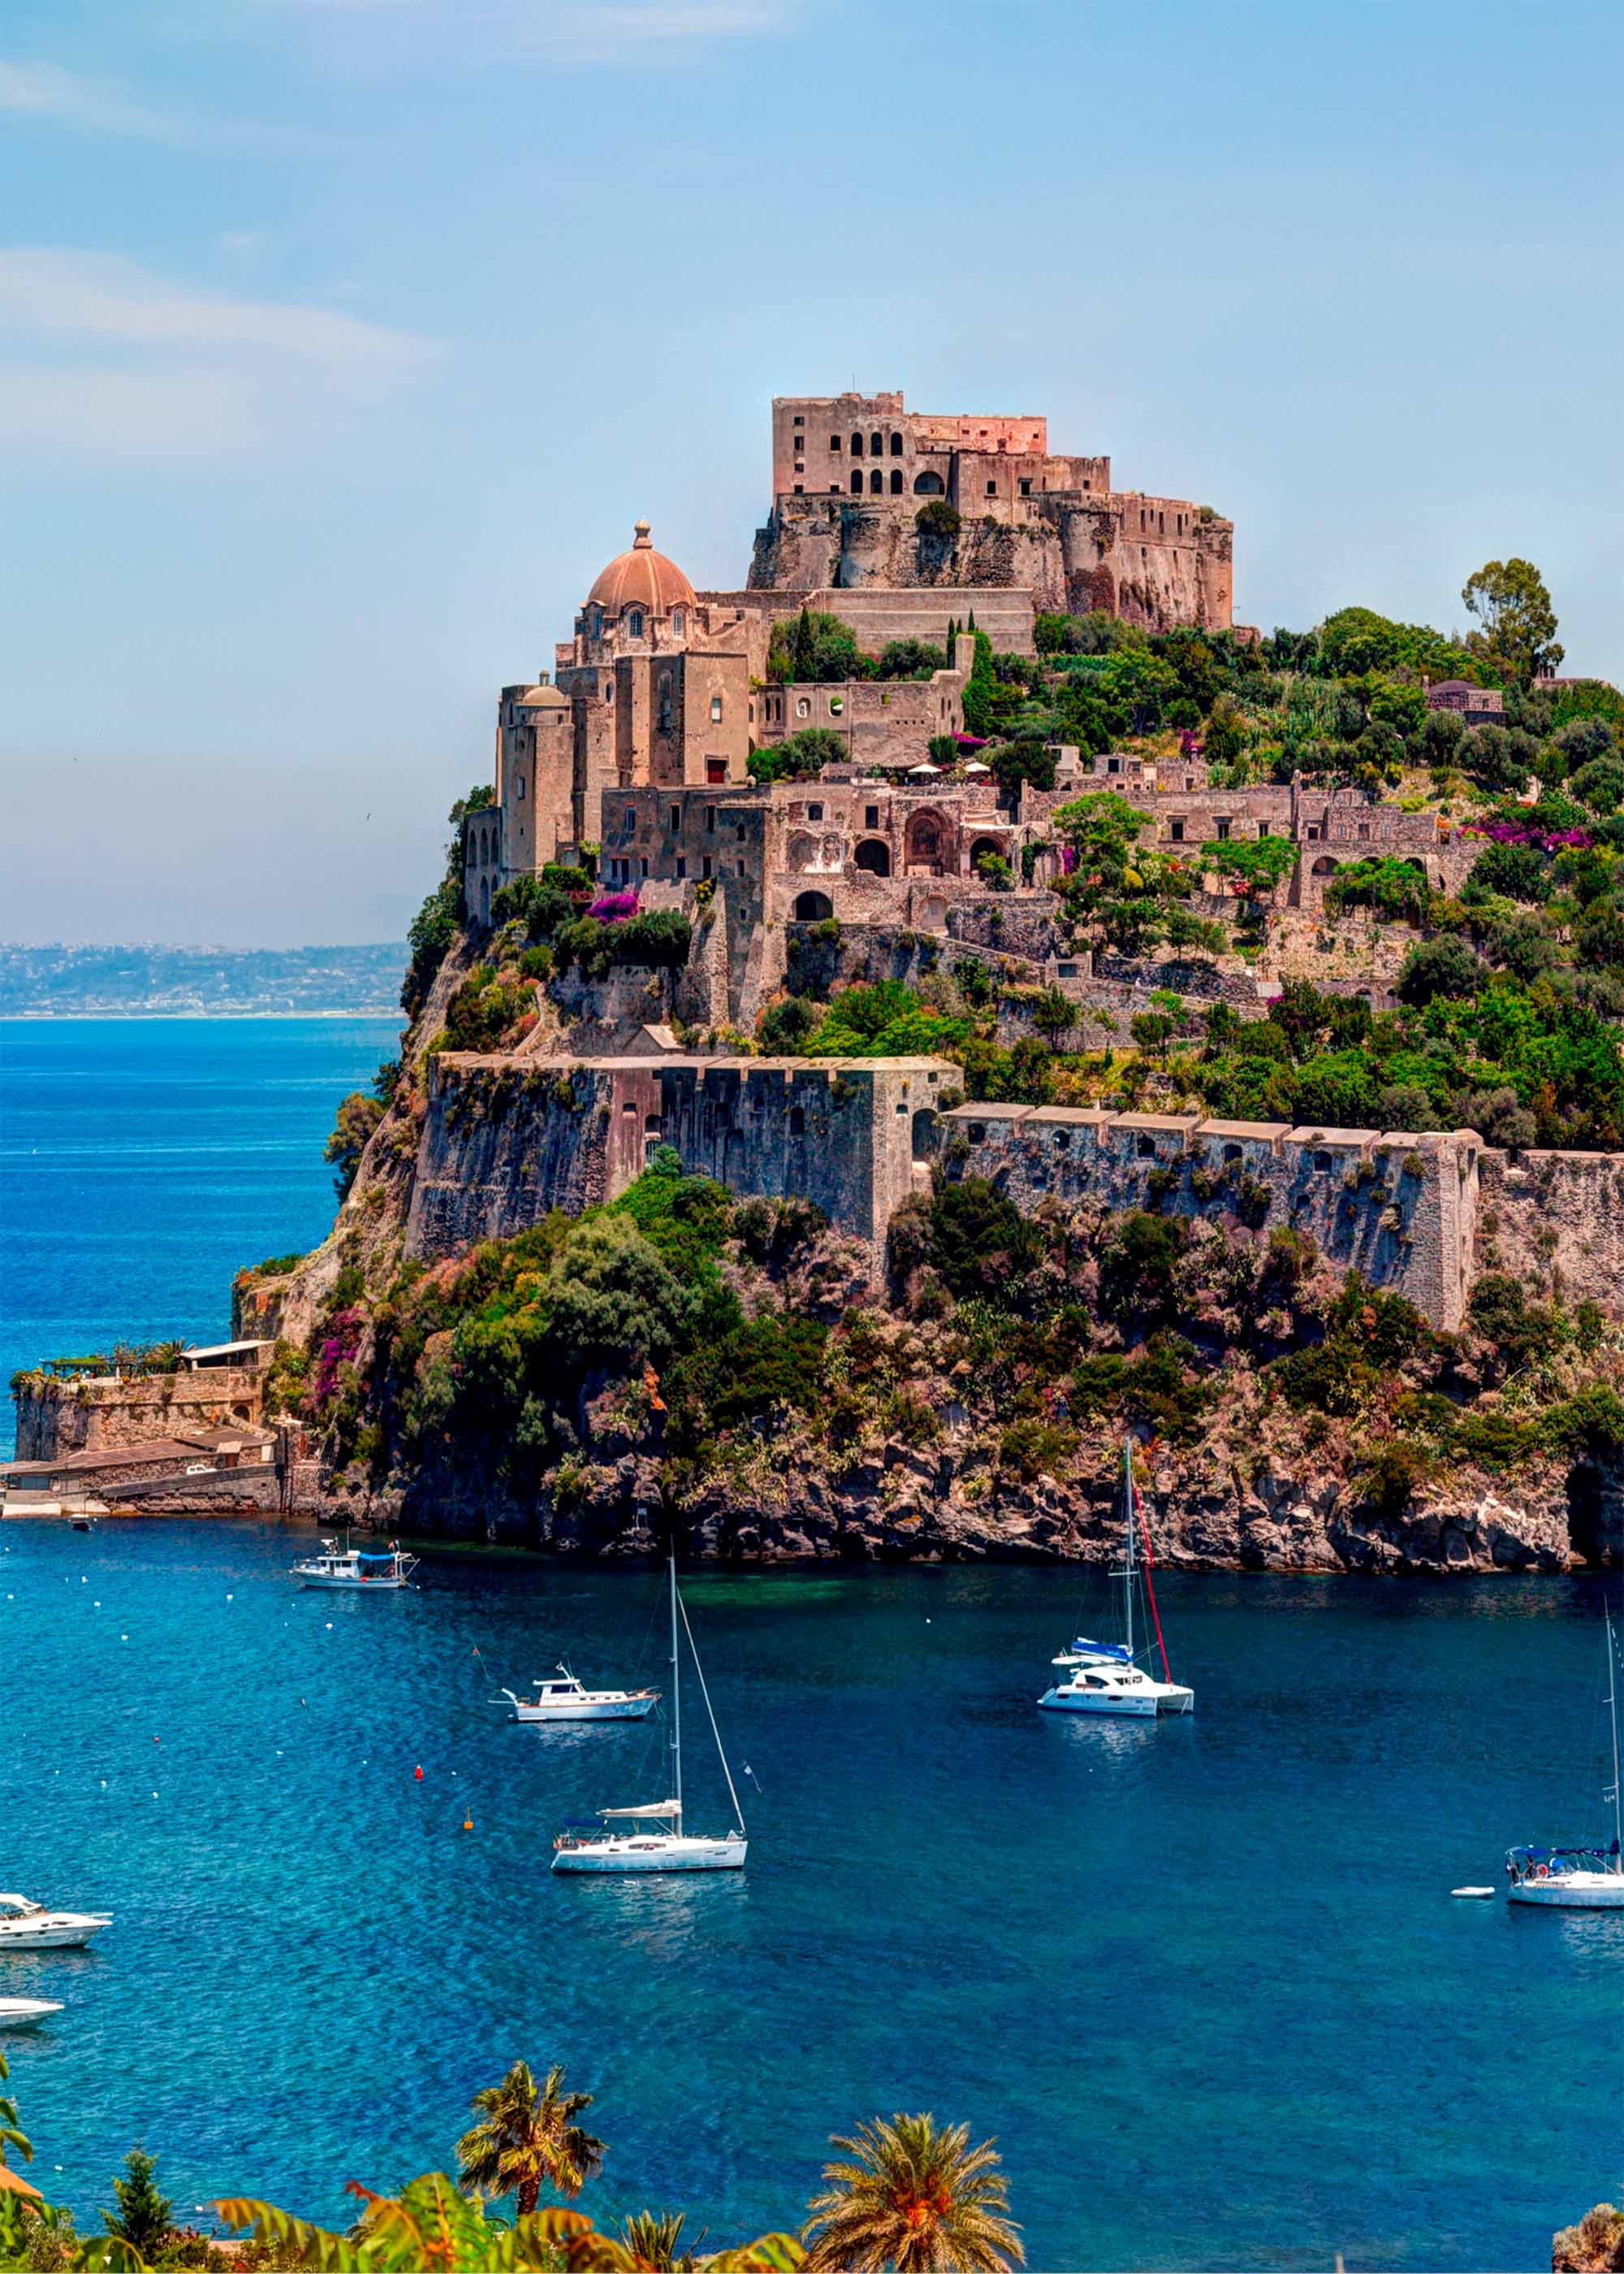
[[[321,1157],[398,1019],[0,1019],[0,1385],[118,1337],[221,1342],[232,1273],[332,1223]],[[0,1458],[14,1449],[11,1403]]]

